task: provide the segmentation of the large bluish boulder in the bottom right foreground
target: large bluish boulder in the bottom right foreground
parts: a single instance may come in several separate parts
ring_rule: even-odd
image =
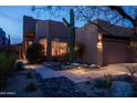
[[[133,86],[128,82],[114,81],[110,86],[110,94],[114,97],[130,97],[133,96]]]

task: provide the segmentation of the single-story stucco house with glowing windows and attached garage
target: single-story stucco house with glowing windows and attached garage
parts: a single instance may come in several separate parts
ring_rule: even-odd
[[[76,28],[76,44],[84,47],[81,61],[94,64],[112,64],[133,62],[128,45],[133,38],[133,29],[110,24],[104,20],[94,20],[99,25],[87,23]],[[28,44],[35,41],[44,44],[48,56],[66,53],[70,28],[63,22],[36,20],[23,17],[23,53]],[[49,50],[49,51],[48,51]]]

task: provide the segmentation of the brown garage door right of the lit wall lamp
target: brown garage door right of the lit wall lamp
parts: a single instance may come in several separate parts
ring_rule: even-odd
[[[131,62],[128,42],[124,40],[103,40],[103,63],[126,63]]]

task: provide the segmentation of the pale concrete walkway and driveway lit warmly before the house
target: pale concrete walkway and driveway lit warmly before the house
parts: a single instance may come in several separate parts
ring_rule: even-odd
[[[53,71],[50,68],[44,65],[29,65],[28,68],[34,69],[38,73],[41,74],[42,79],[66,76],[75,83],[88,81],[96,78],[102,78],[106,74],[118,75],[127,73],[127,70],[124,66],[125,64],[110,64],[104,66],[101,70],[86,70],[86,69],[71,69],[63,71]]]

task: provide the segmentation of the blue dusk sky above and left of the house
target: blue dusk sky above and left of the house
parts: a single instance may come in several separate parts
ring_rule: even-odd
[[[67,13],[67,12],[62,12]],[[1,6],[0,7],[0,28],[2,28],[7,34],[11,37],[11,43],[22,42],[22,25],[23,16],[31,16],[39,19],[51,19],[61,21],[62,17],[53,17],[43,11],[40,14],[32,12],[30,6]],[[66,16],[65,16],[66,18]],[[76,22],[76,25],[81,27],[83,22]]]

